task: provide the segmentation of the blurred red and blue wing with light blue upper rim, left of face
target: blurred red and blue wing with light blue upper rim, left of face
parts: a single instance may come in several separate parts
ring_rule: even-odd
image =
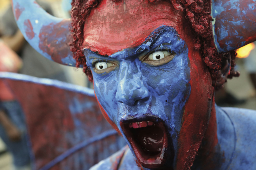
[[[60,81],[0,73],[21,104],[34,170],[81,170],[126,142],[104,119],[94,91]]]

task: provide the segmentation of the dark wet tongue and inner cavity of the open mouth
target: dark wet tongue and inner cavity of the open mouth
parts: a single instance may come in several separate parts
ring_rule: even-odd
[[[134,138],[144,152],[156,154],[162,150],[164,144],[164,132],[159,127],[159,124],[147,126],[146,128],[133,129],[132,131]]]

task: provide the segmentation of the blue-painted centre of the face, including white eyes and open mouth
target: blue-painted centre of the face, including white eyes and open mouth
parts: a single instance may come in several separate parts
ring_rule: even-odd
[[[175,160],[184,106],[191,91],[188,48],[176,30],[161,26],[138,47],[111,56],[89,49],[84,53],[98,102],[139,163],[157,168],[166,164],[166,158]],[[159,131],[164,134],[158,136]],[[149,151],[155,155],[149,156]]]

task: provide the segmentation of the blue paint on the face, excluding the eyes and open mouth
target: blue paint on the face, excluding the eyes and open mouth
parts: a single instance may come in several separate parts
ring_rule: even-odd
[[[168,45],[165,45],[168,43]],[[172,61],[154,67],[138,60],[144,51],[169,50],[176,53]],[[185,103],[190,96],[188,49],[174,28],[161,26],[142,45],[124,49],[109,57],[85,51],[88,65],[98,56],[100,60],[118,60],[119,66],[110,73],[94,75],[94,90],[99,103],[122,135],[120,121],[153,116],[164,121],[170,135],[172,159],[176,160],[178,135]],[[125,137],[126,138],[126,137]],[[130,149],[134,153],[128,139]],[[173,160],[172,160],[173,161]],[[171,161],[171,162],[172,162]]]

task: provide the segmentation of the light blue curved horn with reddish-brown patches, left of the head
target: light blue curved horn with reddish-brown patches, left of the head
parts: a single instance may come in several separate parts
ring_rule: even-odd
[[[29,44],[43,56],[57,63],[74,66],[70,51],[70,19],[49,15],[34,0],[12,0],[18,27]]]

